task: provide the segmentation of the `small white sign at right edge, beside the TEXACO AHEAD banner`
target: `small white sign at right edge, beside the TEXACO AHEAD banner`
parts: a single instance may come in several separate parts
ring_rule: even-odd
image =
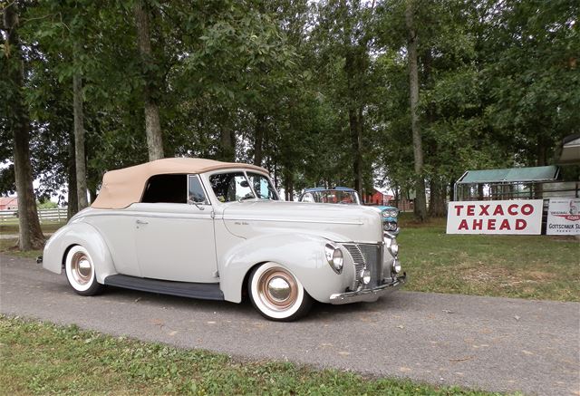
[[[547,235],[580,235],[580,198],[550,198]]]

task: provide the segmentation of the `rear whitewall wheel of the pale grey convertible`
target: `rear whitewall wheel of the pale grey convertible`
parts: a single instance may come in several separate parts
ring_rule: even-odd
[[[96,295],[102,291],[97,282],[91,255],[83,246],[73,246],[64,261],[66,280],[79,295]]]

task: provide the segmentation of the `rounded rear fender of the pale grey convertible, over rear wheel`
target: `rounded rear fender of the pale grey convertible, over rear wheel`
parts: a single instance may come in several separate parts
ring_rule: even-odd
[[[76,221],[61,227],[46,242],[43,251],[43,268],[56,274],[63,272],[64,258],[71,246],[81,245],[87,249],[95,266],[97,282],[104,283],[104,278],[117,274],[109,247],[101,234],[90,224]]]

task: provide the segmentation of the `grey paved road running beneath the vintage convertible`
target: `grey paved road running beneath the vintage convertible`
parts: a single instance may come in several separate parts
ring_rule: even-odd
[[[0,255],[0,312],[237,357],[288,360],[488,391],[580,395],[580,304],[399,292],[267,322],[231,304],[110,288],[73,294],[64,275]]]

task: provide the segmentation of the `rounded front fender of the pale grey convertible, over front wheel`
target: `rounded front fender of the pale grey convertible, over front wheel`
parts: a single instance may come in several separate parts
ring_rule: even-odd
[[[263,235],[232,247],[219,265],[221,290],[227,301],[242,300],[244,279],[253,266],[268,261],[290,270],[314,300],[330,302],[330,296],[353,284],[354,266],[343,251],[343,272],[336,274],[324,256],[328,239],[305,234]]]

